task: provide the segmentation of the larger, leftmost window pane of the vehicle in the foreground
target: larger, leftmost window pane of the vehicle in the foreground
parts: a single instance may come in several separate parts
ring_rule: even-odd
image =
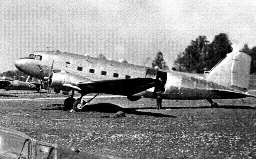
[[[30,142],[26,138],[0,132],[0,155],[13,159],[28,159]]]

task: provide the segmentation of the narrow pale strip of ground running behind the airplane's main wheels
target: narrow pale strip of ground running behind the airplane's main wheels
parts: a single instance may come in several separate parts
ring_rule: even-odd
[[[83,99],[92,98],[93,95],[84,96]],[[101,95],[96,98],[122,98],[126,96],[122,95]],[[12,99],[0,99],[0,101],[34,101],[34,100],[51,100],[51,99],[66,99],[67,97],[49,97],[49,98],[12,98]],[[74,97],[75,99],[79,97]]]

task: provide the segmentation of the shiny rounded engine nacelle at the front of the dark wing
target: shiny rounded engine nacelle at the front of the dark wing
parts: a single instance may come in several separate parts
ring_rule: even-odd
[[[65,94],[72,89],[79,90],[76,83],[88,81],[81,76],[73,75],[67,72],[56,72],[52,74],[51,87],[56,90],[62,90]]]

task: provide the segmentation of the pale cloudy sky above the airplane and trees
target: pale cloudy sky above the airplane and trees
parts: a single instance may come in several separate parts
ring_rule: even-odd
[[[256,46],[256,0],[0,0],[0,19],[0,73],[46,47],[138,65],[161,51],[172,68],[200,35]]]

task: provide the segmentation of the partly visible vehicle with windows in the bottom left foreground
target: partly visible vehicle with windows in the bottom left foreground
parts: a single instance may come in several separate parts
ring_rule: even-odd
[[[20,131],[0,127],[0,159],[110,159],[110,157],[37,141]]]

